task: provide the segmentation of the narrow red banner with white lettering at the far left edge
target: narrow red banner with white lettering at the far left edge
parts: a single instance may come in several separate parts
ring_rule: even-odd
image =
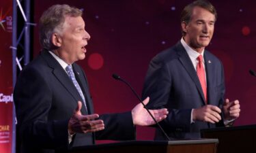
[[[0,152],[12,152],[12,1],[0,0]]]

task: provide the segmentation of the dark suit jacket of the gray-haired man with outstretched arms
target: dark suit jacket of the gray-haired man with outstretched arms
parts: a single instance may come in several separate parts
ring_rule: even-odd
[[[87,110],[83,115],[93,114],[94,107],[85,73],[79,65],[72,64],[79,82]],[[64,152],[74,146],[94,144],[97,139],[134,139],[134,126],[130,112],[105,114],[105,129],[96,133],[76,133],[68,143],[68,121],[82,101],[79,92],[66,71],[53,56],[43,50],[20,72],[14,88],[17,117],[18,152]]]

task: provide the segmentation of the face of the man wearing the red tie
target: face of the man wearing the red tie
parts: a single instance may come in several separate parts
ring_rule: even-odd
[[[194,7],[190,22],[182,22],[186,43],[197,52],[202,52],[212,39],[214,22],[214,14],[202,7]]]

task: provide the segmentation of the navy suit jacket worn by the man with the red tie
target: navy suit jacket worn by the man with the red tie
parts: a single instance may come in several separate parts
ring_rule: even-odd
[[[205,50],[208,104],[222,108],[225,93],[221,61]],[[185,48],[175,46],[157,54],[150,62],[143,87],[143,98],[149,96],[149,108],[167,107],[167,119],[160,122],[173,139],[199,138],[200,129],[215,127],[208,122],[190,123],[191,110],[205,105],[203,90]],[[223,121],[217,126],[223,125]],[[157,128],[155,139],[166,139]]]

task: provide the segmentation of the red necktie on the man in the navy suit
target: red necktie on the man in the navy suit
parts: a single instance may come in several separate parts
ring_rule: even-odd
[[[207,103],[207,86],[206,86],[206,79],[205,79],[205,71],[203,69],[203,56],[200,54],[197,57],[197,76],[201,83],[201,87],[203,89],[203,95],[205,97],[205,103]]]

